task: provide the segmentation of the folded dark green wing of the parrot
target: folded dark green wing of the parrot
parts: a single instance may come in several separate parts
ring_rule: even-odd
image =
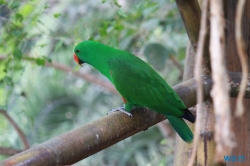
[[[111,81],[130,103],[165,115],[182,116],[183,104],[176,92],[147,63],[134,55],[109,60]]]

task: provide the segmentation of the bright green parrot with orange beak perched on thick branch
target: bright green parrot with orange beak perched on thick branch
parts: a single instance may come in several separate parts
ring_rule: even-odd
[[[164,114],[179,136],[192,142],[193,133],[182,119],[192,123],[195,117],[177,93],[146,62],[135,55],[95,41],[84,41],[74,48],[74,60],[88,63],[105,75],[121,94],[125,106],[111,110],[129,116],[132,108],[150,108]]]

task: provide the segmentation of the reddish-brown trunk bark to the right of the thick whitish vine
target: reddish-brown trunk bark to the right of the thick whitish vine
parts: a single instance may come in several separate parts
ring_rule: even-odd
[[[235,43],[235,13],[236,13],[236,0],[225,0],[225,16],[226,16],[226,59],[227,68],[229,71],[241,72],[240,60],[237,55]],[[242,18],[242,33],[246,43],[246,52],[250,55],[250,1],[246,1],[244,15]],[[249,66],[248,66],[249,67]],[[249,68],[248,68],[249,70]],[[231,98],[231,109],[235,110],[236,99]],[[245,156],[245,162],[228,162],[228,166],[248,166],[250,164],[250,100],[244,100],[244,108],[246,109],[242,118],[233,117],[233,131],[236,138],[236,147],[233,149],[232,155]],[[234,115],[234,112],[232,112]],[[230,154],[229,154],[230,155]]]

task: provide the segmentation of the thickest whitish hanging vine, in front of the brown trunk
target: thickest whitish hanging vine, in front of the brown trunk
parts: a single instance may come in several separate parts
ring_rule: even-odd
[[[211,97],[215,111],[216,159],[224,162],[224,156],[231,153],[233,146],[231,112],[229,103],[229,83],[225,67],[225,34],[223,0],[211,0],[210,56],[213,88]]]

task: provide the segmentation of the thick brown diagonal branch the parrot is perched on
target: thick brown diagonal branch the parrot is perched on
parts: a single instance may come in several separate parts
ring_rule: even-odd
[[[232,96],[239,89],[239,78],[239,73],[229,74]],[[211,77],[204,76],[202,80],[204,96],[208,98],[212,87]],[[248,77],[248,81],[250,81],[250,77]],[[186,106],[191,107],[196,104],[196,86],[195,80],[190,79],[173,88]],[[245,97],[250,98],[249,84],[247,89]],[[144,112],[138,109],[132,114],[132,118],[120,112],[104,116],[97,121],[12,156],[0,162],[0,165],[73,164],[165,119],[164,115],[150,110]]]

